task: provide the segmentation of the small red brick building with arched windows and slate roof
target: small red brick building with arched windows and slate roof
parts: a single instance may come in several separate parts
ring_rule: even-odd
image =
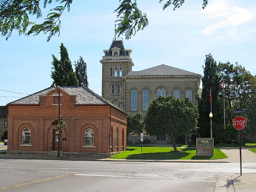
[[[58,87],[60,151],[91,154],[125,151],[127,113],[84,86]],[[46,153],[58,150],[58,92],[46,88],[8,104],[8,153]]]

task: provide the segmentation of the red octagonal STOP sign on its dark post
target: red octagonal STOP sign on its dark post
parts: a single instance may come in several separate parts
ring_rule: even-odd
[[[237,109],[238,111],[239,109]],[[246,110],[246,109],[245,109]],[[246,110],[247,112],[247,110]],[[232,111],[231,111],[232,113]],[[242,176],[242,149],[241,149],[241,130],[244,129],[246,126],[246,119],[243,116],[236,116],[233,119],[233,127],[235,127],[238,130],[238,138],[239,138],[239,152],[240,152],[240,176]]]

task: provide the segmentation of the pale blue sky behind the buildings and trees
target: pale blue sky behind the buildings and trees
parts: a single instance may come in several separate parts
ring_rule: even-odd
[[[256,74],[256,1],[209,0],[202,10],[201,0],[186,0],[175,11],[162,11],[158,0],[137,4],[148,14],[149,26],[123,40],[125,48],[132,49],[133,71],[165,64],[202,75],[205,55],[211,53],[217,62],[238,62]],[[114,37],[118,5],[118,0],[74,0],[61,18],[61,35],[50,42],[47,34],[27,37],[14,31],[8,41],[0,37],[0,89],[5,90],[0,91],[0,105],[51,86],[52,54],[60,58],[61,43],[72,64],[84,58],[89,88],[101,95],[99,60]]]

